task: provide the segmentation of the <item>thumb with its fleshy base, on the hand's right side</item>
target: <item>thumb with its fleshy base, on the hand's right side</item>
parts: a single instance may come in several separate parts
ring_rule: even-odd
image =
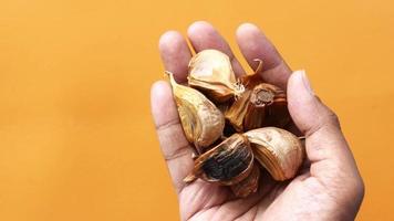
[[[304,71],[297,71],[289,78],[288,107],[296,126],[305,135],[311,162],[308,183],[313,183],[312,190],[322,187],[325,191],[315,193],[330,196],[335,201],[332,209],[353,219],[364,196],[364,185],[336,115],[314,95]],[[330,203],[325,207],[330,208]]]

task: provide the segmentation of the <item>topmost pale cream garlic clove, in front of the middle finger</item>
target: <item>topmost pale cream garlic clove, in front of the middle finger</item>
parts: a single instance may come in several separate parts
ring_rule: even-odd
[[[243,86],[236,80],[230,59],[218,50],[197,53],[188,66],[188,84],[214,102],[226,102],[243,91]]]

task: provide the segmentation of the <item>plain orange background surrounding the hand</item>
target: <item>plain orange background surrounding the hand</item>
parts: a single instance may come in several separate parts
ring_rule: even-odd
[[[0,220],[178,219],[148,97],[160,33],[195,20],[238,55],[257,23],[308,71],[364,178],[359,220],[394,220],[392,0],[1,0]]]

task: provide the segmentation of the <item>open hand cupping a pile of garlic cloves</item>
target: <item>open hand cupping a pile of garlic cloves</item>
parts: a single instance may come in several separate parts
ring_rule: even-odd
[[[207,22],[188,29],[196,52],[216,49],[231,59],[237,75],[245,73],[228,43]],[[287,182],[274,182],[263,173],[259,190],[246,199],[235,199],[227,187],[196,180],[185,185],[191,171],[191,147],[179,124],[172,90],[166,82],[152,87],[152,113],[158,139],[178,196],[182,220],[353,220],[364,196],[364,186],[335,114],[314,95],[302,71],[291,73],[274,46],[253,24],[237,30],[241,53],[252,69],[263,61],[261,77],[287,88],[291,117],[305,136],[307,164]],[[175,31],[159,41],[167,71],[185,82],[190,50]]]

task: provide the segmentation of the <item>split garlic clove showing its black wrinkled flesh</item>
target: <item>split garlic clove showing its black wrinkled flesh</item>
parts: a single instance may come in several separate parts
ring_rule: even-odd
[[[208,182],[231,186],[247,178],[253,167],[253,152],[248,139],[234,134],[195,160],[193,175]]]

